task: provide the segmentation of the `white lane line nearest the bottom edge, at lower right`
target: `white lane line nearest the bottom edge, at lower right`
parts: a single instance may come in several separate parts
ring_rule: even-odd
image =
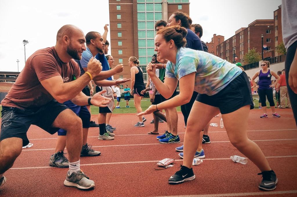
[[[260,196],[260,195],[276,195],[297,193],[297,190],[285,191],[263,191],[263,192],[247,192],[247,193],[219,193],[219,194],[200,194],[200,195],[184,195],[184,196],[158,196],[158,197],[224,197],[224,196]]]

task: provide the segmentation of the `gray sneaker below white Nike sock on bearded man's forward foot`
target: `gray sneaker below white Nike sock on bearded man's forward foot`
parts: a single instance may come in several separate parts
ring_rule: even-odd
[[[66,180],[64,180],[64,185],[77,187],[79,189],[90,189],[95,187],[95,182],[90,180],[82,170],[72,172],[69,174],[69,171],[66,175]]]

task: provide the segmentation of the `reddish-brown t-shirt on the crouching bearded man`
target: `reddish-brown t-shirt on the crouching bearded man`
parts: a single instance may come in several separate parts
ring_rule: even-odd
[[[55,47],[40,49],[28,58],[25,68],[1,104],[7,107],[38,109],[53,100],[40,81],[62,76],[64,83],[67,83],[74,80],[73,74],[76,78],[80,76],[79,66],[73,59],[65,64],[57,55]]]

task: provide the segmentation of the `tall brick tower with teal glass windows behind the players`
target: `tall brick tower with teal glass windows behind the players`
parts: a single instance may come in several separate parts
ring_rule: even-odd
[[[146,82],[145,68],[155,54],[155,22],[168,21],[173,12],[189,14],[189,4],[189,0],[109,0],[111,55],[115,65],[124,64],[124,71],[114,78],[131,77],[128,60],[135,56]],[[126,84],[130,87],[129,82]]]

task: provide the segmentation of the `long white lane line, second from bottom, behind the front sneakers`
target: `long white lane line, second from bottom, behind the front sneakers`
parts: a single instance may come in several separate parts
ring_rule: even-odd
[[[288,156],[268,156],[266,158],[288,158],[297,157],[297,155]],[[230,158],[209,158],[203,160],[230,160]],[[111,164],[139,164],[139,163],[157,163],[157,161],[126,161],[126,162],[110,162],[110,163],[97,163],[97,164],[80,164],[80,166],[98,166],[98,165],[111,165]],[[183,161],[182,159],[176,159],[175,161]],[[23,168],[10,168],[10,170],[22,170],[22,169],[42,169],[42,168],[55,168],[51,166],[40,166],[40,167],[23,167]]]

